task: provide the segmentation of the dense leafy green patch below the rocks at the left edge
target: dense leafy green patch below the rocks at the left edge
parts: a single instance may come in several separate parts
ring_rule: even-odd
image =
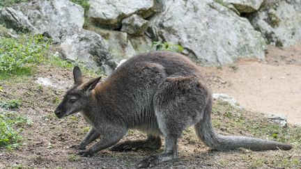
[[[1,79],[11,75],[31,74],[32,67],[45,60],[49,42],[43,35],[20,35],[20,38],[0,39]]]

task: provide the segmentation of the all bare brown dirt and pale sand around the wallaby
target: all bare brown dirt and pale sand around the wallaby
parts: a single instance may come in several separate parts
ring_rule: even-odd
[[[276,49],[269,47],[266,61],[239,61],[224,67],[201,68],[214,92],[223,92],[236,98],[242,106],[263,113],[284,113],[289,122],[300,120],[300,65],[298,47]],[[283,54],[282,54],[283,52]],[[299,53],[298,53],[299,52]],[[36,83],[40,78],[52,81],[51,86]],[[91,78],[91,77],[90,77]],[[47,80],[45,80],[47,81]],[[91,158],[77,156],[71,145],[80,143],[88,125],[79,115],[57,119],[53,113],[65,89],[72,83],[71,70],[40,65],[36,75],[26,79],[0,81],[1,99],[21,99],[18,112],[33,120],[24,126],[22,145],[17,150],[0,148],[0,168],[134,168],[144,156],[157,151],[111,152],[103,150]],[[299,103],[299,104],[298,104]],[[254,120],[264,121],[261,114],[247,113]],[[240,129],[232,130],[222,124],[222,134],[253,136]],[[266,123],[264,121],[262,124]],[[256,135],[265,138],[265,134]],[[130,131],[123,140],[145,138],[139,131]],[[162,138],[163,139],[163,138]],[[252,152],[235,150],[215,152],[209,150],[188,129],[179,140],[179,159],[162,163],[155,168],[300,168],[301,151]]]

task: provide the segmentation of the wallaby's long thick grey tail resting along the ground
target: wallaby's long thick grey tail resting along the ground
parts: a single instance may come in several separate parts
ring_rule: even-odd
[[[222,136],[215,132],[211,122],[212,101],[203,112],[203,119],[194,125],[196,135],[213,150],[233,150],[238,147],[249,150],[291,150],[291,145],[278,143],[276,141],[263,140],[260,138],[249,138],[245,136]]]

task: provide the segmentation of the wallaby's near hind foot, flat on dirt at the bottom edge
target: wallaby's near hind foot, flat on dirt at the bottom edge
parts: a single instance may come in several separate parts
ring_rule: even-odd
[[[148,168],[157,166],[158,164],[166,161],[177,159],[177,154],[174,153],[162,153],[153,156],[148,156],[136,164],[136,168]]]

